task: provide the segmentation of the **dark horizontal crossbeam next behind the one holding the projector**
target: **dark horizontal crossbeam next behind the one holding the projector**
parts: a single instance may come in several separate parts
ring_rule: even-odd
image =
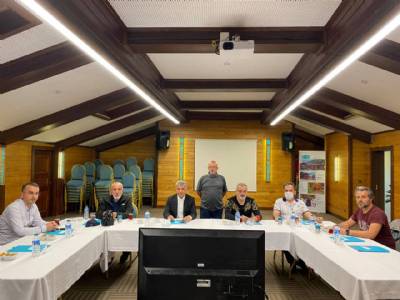
[[[286,79],[164,79],[164,89],[187,92],[205,91],[238,91],[277,92],[287,87]]]

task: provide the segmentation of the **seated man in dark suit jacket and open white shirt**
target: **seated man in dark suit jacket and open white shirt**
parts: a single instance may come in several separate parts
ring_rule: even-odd
[[[168,198],[164,208],[164,218],[168,220],[183,219],[185,223],[196,219],[196,205],[194,198],[188,194],[186,182],[176,182],[176,194]]]

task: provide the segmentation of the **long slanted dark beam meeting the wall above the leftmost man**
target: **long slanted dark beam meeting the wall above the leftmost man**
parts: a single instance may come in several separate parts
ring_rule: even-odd
[[[0,143],[11,144],[27,137],[54,129],[58,126],[90,116],[96,112],[125,104],[137,99],[131,90],[125,88],[92,100],[71,106],[39,119],[4,130],[0,133]]]

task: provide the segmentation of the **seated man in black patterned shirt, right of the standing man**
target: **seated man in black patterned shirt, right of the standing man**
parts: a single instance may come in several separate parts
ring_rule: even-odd
[[[256,201],[247,196],[247,185],[245,183],[238,183],[236,195],[228,199],[225,207],[225,219],[235,220],[237,211],[240,213],[241,222],[247,222],[248,219],[255,222],[261,220],[261,213]]]

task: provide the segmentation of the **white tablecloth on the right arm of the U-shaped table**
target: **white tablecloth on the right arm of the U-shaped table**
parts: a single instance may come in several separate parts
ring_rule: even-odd
[[[400,299],[399,252],[390,248],[390,253],[358,252],[349,245],[380,244],[366,240],[338,245],[326,233],[316,234],[304,228],[296,228],[293,233],[297,256],[344,298]]]

